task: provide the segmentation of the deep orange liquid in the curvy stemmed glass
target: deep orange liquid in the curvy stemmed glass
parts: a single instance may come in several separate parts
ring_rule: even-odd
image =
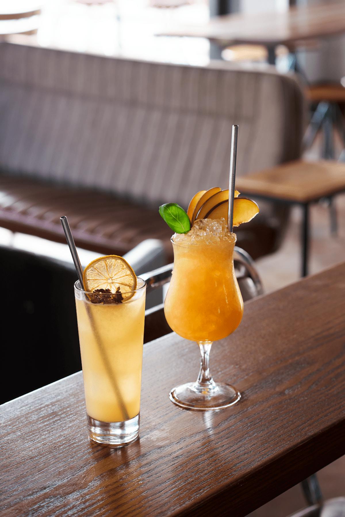
[[[236,237],[206,244],[173,242],[174,270],[164,302],[169,326],[191,341],[226,338],[241,323],[243,299],[235,277]]]

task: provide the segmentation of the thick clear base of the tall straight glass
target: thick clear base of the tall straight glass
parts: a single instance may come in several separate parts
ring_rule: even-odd
[[[101,422],[87,415],[87,432],[98,444],[126,445],[139,436],[139,415],[124,422]]]

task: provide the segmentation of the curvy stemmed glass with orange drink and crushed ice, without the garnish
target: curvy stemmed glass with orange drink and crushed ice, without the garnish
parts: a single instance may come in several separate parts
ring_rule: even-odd
[[[230,384],[215,383],[209,353],[212,343],[229,336],[242,320],[243,299],[233,263],[236,235],[224,220],[204,219],[171,241],[174,269],[164,313],[172,330],[198,343],[201,367],[197,381],[173,388],[170,399],[187,409],[231,406],[241,394]]]

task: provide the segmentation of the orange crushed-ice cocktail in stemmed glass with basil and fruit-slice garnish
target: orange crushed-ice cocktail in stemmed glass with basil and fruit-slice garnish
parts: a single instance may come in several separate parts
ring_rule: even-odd
[[[238,195],[235,191],[234,226],[259,211],[256,203]],[[202,357],[197,382],[170,393],[170,399],[184,408],[220,409],[241,398],[233,386],[216,384],[209,373],[213,341],[229,336],[243,315],[233,262],[236,235],[228,230],[228,208],[229,191],[218,187],[198,192],[187,213],[174,203],[160,207],[161,216],[175,230],[174,269],[164,313],[172,330],[198,343]]]

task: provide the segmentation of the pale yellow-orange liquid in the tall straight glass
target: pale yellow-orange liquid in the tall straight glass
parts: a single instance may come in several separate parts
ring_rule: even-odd
[[[140,409],[145,291],[137,298],[118,305],[76,299],[76,307],[87,414],[103,422],[121,422],[137,416]],[[94,327],[98,330],[98,339]],[[98,340],[101,340],[102,348]],[[110,372],[118,393],[114,391]],[[122,404],[126,407],[127,418]]]

